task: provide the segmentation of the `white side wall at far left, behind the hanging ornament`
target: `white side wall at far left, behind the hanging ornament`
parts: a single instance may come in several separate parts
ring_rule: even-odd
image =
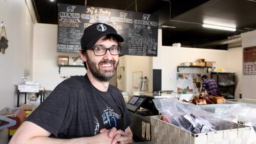
[[[33,42],[33,22],[25,0],[0,0],[2,21],[6,24],[9,47],[5,54],[0,53],[0,110],[16,106],[14,84],[21,83],[25,69],[32,74]],[[24,95],[21,95],[20,101],[24,101]],[[0,143],[8,143],[8,129],[0,130]]]

